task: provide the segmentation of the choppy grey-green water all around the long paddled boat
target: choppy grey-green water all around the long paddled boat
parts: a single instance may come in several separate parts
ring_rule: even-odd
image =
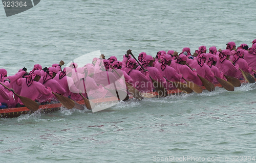
[[[95,50],[121,60],[127,49],[155,56],[159,50],[180,52],[183,47],[225,48],[229,41],[251,45],[256,36],[254,8],[254,1],[57,0],[41,1],[11,17],[2,8],[1,68],[12,75],[34,64],[68,63]],[[255,92],[252,84],[234,92],[217,88],[121,102],[97,113],[63,109],[0,119],[0,162],[253,158]],[[248,160],[243,157],[242,162]]]

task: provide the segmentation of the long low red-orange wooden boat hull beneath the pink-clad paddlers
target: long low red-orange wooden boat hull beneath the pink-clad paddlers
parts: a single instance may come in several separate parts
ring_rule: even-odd
[[[241,83],[247,83],[246,80],[240,80]],[[215,87],[222,87],[220,84],[215,84]],[[205,87],[202,86],[203,90],[205,90]],[[178,89],[174,90],[168,90],[168,94],[179,94],[182,93],[182,91]],[[157,92],[153,92],[156,97],[158,96]],[[130,98],[133,98],[132,96]],[[104,104],[104,103],[111,103],[111,102],[117,102],[118,99],[116,97],[108,97],[108,98],[102,98],[102,99],[92,99],[92,101],[97,104]],[[84,105],[84,101],[76,101],[79,104]],[[36,112],[40,112],[43,114],[51,113],[55,111],[59,111],[62,107],[61,103],[53,103],[53,104],[46,104],[46,105],[39,105],[39,109]],[[27,107],[14,107],[14,108],[5,108],[0,110],[0,118],[14,118],[18,117],[20,115],[25,114],[32,114],[33,112],[30,111]]]

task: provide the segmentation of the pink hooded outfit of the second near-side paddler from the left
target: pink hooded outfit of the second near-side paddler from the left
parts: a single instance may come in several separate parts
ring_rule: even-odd
[[[26,76],[26,78],[19,78],[17,80],[17,85],[22,86],[22,91],[20,96],[28,97],[32,100],[38,98],[41,94],[49,96],[52,94],[50,87],[45,88],[41,83],[35,82],[34,78],[36,75],[41,75],[39,70],[35,70],[32,74]],[[23,105],[22,101],[18,99],[18,103]]]

